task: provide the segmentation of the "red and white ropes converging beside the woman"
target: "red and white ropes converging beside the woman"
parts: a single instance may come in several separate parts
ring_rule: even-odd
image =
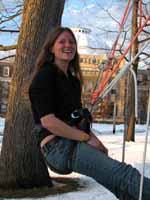
[[[137,106],[138,106],[138,95],[137,95],[137,78],[135,70],[133,69],[133,63],[137,61],[137,59],[140,59],[140,55],[144,52],[145,49],[150,49],[150,43],[149,38],[146,36],[145,42],[140,47],[138,52],[132,56],[131,51],[133,45],[135,45],[135,42],[137,42],[138,37],[141,36],[141,33],[143,32],[144,28],[146,26],[149,26],[148,23],[150,22],[150,15],[144,16],[143,11],[143,2],[142,0],[138,1],[138,7],[139,7],[139,21],[138,21],[138,31],[133,36],[132,39],[127,45],[126,48],[124,48],[124,52],[120,56],[120,59],[117,61],[117,63],[113,62],[115,59],[115,51],[117,49],[118,41],[121,35],[121,32],[123,31],[125,22],[129,16],[129,12],[132,10],[132,7],[135,6],[134,4],[137,3],[136,1],[128,0],[125,11],[123,13],[121,22],[119,24],[119,32],[116,37],[116,40],[114,42],[114,45],[112,47],[112,50],[110,52],[110,55],[108,57],[108,62],[103,67],[103,71],[105,73],[100,73],[99,77],[97,79],[97,83],[94,89],[94,92],[91,97],[91,105],[90,105],[90,111],[94,112],[99,102],[103,100],[103,98],[111,91],[111,89],[117,84],[117,82],[127,73],[130,71],[130,73],[133,76],[134,80],[134,95],[135,95],[135,119],[138,117],[137,113]],[[132,15],[133,16],[133,15]],[[133,16],[138,17],[138,16]],[[148,34],[148,31],[147,31]],[[150,33],[149,33],[150,34]],[[125,57],[129,55],[128,57],[130,60],[123,66],[122,68],[119,68],[120,63]],[[140,191],[139,191],[139,200],[142,200],[142,189],[143,189],[143,177],[144,177],[144,167],[145,167],[145,160],[146,160],[146,149],[147,149],[147,142],[148,142],[148,128],[149,128],[149,121],[150,121],[150,89],[149,89],[149,100],[148,100],[148,108],[147,108],[147,122],[146,122],[146,137],[145,137],[145,147],[143,152],[143,170],[142,170],[142,176],[141,176],[141,184],[140,184]],[[126,128],[126,127],[125,127]],[[125,159],[125,140],[126,140],[126,131],[124,133],[123,137],[123,152],[122,152],[122,161],[124,162]]]

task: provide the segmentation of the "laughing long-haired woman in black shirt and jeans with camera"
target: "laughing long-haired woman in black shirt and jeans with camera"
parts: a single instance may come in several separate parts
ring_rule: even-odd
[[[36,66],[29,96],[48,166],[61,174],[74,171],[90,176],[121,200],[137,200],[138,170],[110,158],[104,144],[79,126],[84,119],[82,74],[76,39],[69,28],[58,27],[48,35]],[[149,199],[150,180],[145,177],[143,200]]]

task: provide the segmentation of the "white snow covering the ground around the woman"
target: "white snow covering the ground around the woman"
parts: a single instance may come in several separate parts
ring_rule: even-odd
[[[4,119],[0,118],[0,133],[4,129]],[[124,125],[116,125],[116,133],[113,134],[112,124],[93,124],[92,129],[95,134],[100,138],[101,141],[108,147],[109,155],[117,160],[122,159],[122,143],[123,143],[123,131]],[[150,130],[149,130],[150,132]],[[135,142],[126,142],[126,153],[125,162],[132,164],[134,167],[142,170],[142,160],[144,152],[144,142],[146,134],[145,125],[136,125],[135,128]],[[0,134],[0,146],[1,146],[2,136]],[[53,177],[58,177],[58,174],[50,171],[50,175]],[[45,198],[39,198],[40,200],[116,200],[117,198],[106,190],[103,186],[99,185],[93,179],[72,173],[66,175],[69,177],[79,178],[80,185],[85,187],[81,191],[68,192],[64,194],[58,194],[55,196],[48,196]],[[148,138],[147,145],[147,157],[145,165],[145,176],[150,178],[150,139]],[[27,199],[26,199],[27,200]]]

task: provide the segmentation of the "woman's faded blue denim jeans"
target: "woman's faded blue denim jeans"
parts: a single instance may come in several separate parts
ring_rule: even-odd
[[[48,144],[44,155],[50,168],[56,169],[57,173],[65,174],[66,170],[66,173],[74,171],[92,177],[120,200],[139,198],[139,171],[131,165],[110,158],[85,142],[58,139]],[[142,200],[150,200],[150,179],[146,177]]]

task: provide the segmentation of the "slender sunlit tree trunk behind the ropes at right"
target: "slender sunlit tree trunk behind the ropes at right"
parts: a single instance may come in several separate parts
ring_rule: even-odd
[[[132,38],[135,36],[135,34],[138,32],[138,3],[139,0],[133,1],[133,14],[132,14]],[[138,53],[138,38],[135,40],[134,44],[131,48],[131,56],[134,57]],[[138,61],[137,58],[133,63],[133,70],[137,74],[137,68],[138,68]],[[127,141],[134,141],[134,135],[135,135],[135,89],[134,89],[134,81],[133,77],[130,75],[129,80],[129,98],[128,98],[128,129],[127,129]]]

